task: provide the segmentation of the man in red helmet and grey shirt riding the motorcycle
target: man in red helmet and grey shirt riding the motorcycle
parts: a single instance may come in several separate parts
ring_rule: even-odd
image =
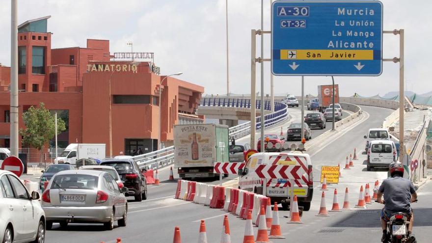
[[[385,206],[381,210],[381,227],[382,238],[381,242],[387,240],[387,222],[390,217],[396,213],[406,213],[408,215],[408,235],[412,232],[414,223],[414,215],[411,209],[411,202],[417,199],[414,185],[411,181],[403,178],[404,166],[401,163],[392,163],[389,167],[390,178],[385,179],[378,189],[377,198],[379,203],[384,203]],[[384,194],[384,201],[382,195]]]

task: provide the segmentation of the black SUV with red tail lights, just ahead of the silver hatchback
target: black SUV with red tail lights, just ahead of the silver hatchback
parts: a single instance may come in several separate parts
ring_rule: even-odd
[[[126,196],[135,196],[135,201],[147,199],[147,182],[142,174],[145,169],[140,169],[134,160],[104,160],[100,165],[112,166],[117,170],[123,185],[129,189]]]

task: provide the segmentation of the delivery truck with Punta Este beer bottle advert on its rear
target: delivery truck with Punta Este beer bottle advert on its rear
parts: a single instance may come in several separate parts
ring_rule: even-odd
[[[180,178],[214,177],[215,162],[229,162],[228,126],[174,126],[174,167]]]

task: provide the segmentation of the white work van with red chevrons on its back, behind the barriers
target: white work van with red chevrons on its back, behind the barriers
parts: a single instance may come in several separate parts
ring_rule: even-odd
[[[313,195],[313,171],[312,162],[308,154],[296,153],[256,153],[246,162],[243,169],[239,169],[239,188],[253,191],[258,194],[270,197],[272,203],[278,202],[282,207],[288,208],[289,205],[289,182],[286,179],[264,179],[261,180],[255,173],[255,169],[260,164],[274,165],[300,165],[297,175],[300,179],[295,180],[294,193],[297,195],[299,206],[308,211]],[[263,193],[264,183],[267,191]]]

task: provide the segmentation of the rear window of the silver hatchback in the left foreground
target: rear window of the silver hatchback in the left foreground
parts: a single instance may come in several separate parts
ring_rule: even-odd
[[[51,189],[97,189],[98,177],[92,175],[57,175]]]

